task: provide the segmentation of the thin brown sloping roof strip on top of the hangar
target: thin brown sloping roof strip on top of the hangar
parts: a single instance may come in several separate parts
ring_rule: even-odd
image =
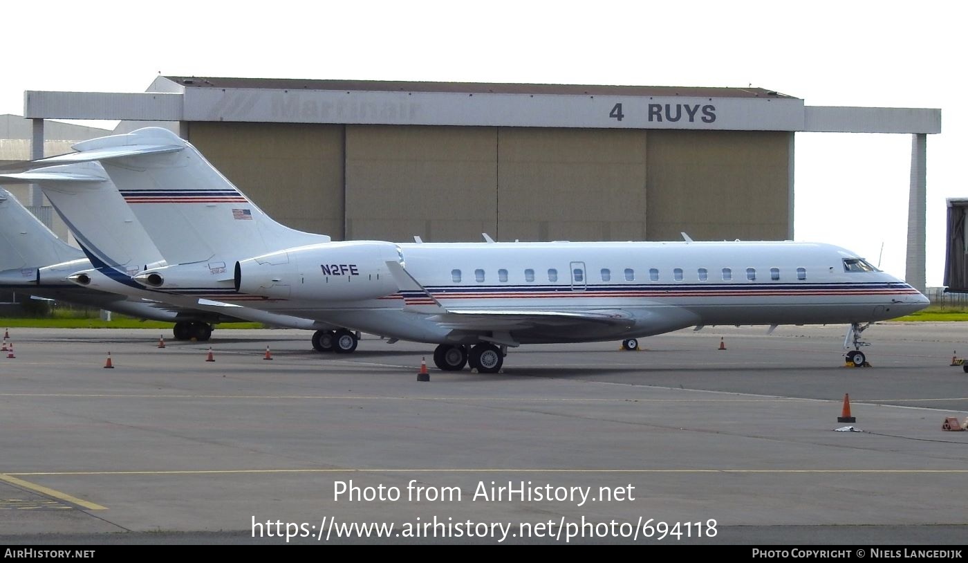
[[[165,77],[188,88],[263,88],[356,92],[446,92],[463,94],[560,94],[564,96],[681,96],[688,98],[787,98],[766,88],[625,86],[592,84],[509,84],[398,80],[309,80],[301,78]]]

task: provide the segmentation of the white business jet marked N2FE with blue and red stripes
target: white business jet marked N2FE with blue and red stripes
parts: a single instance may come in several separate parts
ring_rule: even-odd
[[[847,358],[862,365],[865,328],[928,304],[856,254],[820,243],[307,242],[166,130],[75,149],[45,164],[100,161],[172,265],[136,274],[145,288],[436,343],[441,369],[496,372],[508,347],[529,343],[804,324],[849,325]],[[263,252],[246,256],[254,248]],[[213,261],[231,275],[213,273]]]

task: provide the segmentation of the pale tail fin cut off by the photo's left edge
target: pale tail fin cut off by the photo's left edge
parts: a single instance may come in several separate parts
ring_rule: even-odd
[[[0,183],[15,183],[0,175]],[[0,271],[50,266],[83,258],[44,223],[0,188]]]

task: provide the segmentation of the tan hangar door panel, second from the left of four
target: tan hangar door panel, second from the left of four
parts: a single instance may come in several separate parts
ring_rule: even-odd
[[[497,235],[497,129],[347,126],[347,238]]]

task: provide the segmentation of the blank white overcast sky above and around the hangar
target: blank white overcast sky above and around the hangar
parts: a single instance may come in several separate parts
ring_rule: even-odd
[[[6,3],[0,113],[24,90],[142,92],[159,73],[674,86],[752,84],[808,106],[942,109],[927,140],[928,286],[945,199],[968,197],[957,2]],[[961,41],[957,41],[957,39]],[[111,126],[106,124],[105,126]],[[960,147],[960,152],[955,152]],[[904,276],[911,137],[796,138],[798,240]],[[882,256],[883,247],[883,256]]]

